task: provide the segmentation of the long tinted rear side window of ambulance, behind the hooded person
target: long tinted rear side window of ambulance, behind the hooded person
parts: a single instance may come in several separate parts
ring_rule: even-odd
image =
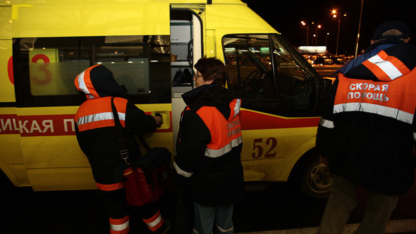
[[[80,105],[75,77],[108,67],[133,103],[169,103],[169,35],[14,38],[18,107]]]

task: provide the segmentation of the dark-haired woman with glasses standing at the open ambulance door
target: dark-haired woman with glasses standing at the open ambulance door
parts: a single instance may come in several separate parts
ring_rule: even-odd
[[[234,233],[233,204],[244,197],[240,161],[240,99],[224,88],[227,67],[218,59],[195,64],[195,89],[182,95],[174,168],[188,179],[194,201],[194,233]]]

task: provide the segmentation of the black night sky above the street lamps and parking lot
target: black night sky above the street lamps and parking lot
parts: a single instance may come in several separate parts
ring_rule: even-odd
[[[318,29],[318,45],[325,45],[329,52],[335,54],[338,18],[332,17],[332,10],[346,13],[340,20],[338,54],[354,54],[361,10],[361,0],[338,1],[293,1],[293,0],[242,0],[257,15],[288,39],[295,47],[306,45],[306,26],[309,24],[308,45]],[[416,45],[416,1],[362,1],[360,36],[358,54],[370,45],[376,27],[385,21],[400,20],[410,29],[410,44]],[[273,5],[273,6],[272,6]],[[274,6],[276,5],[276,6]],[[311,25],[311,22],[315,22]],[[329,35],[327,35],[329,33]],[[326,36],[327,35],[327,36]],[[315,41],[314,41],[315,45]]]

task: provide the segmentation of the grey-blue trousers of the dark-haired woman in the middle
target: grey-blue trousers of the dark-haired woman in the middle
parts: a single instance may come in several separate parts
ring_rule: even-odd
[[[217,233],[232,234],[234,233],[233,225],[233,205],[229,206],[204,206],[196,202],[194,204],[195,222],[193,227],[194,234],[212,234],[214,223]]]

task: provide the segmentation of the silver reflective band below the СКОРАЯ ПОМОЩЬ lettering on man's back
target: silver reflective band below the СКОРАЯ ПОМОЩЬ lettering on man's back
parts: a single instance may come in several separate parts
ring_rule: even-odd
[[[413,114],[392,107],[362,102],[351,102],[334,105],[334,113],[348,111],[362,111],[379,114],[407,124],[411,124],[413,121]]]

